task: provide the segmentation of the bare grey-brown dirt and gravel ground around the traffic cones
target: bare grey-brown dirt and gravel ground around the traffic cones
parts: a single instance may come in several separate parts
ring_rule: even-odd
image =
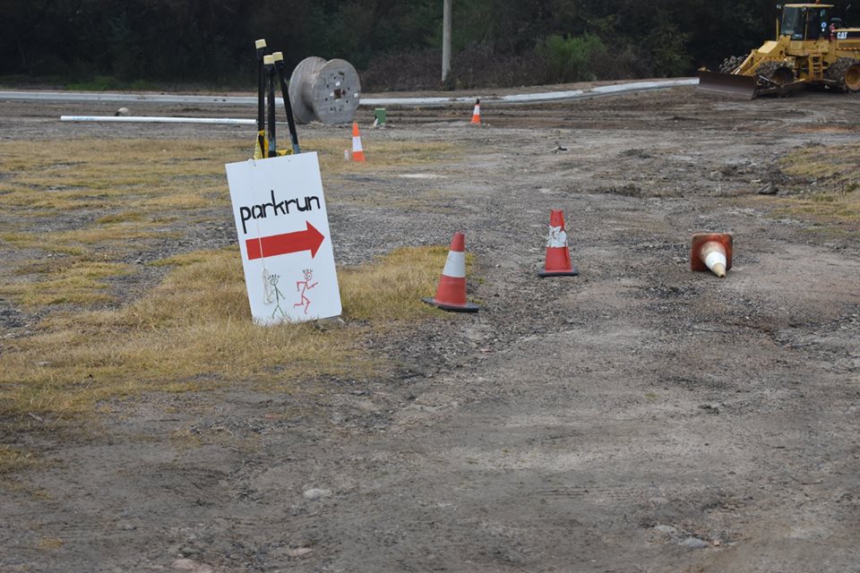
[[[110,111],[0,102],[0,137],[247,131],[56,121]],[[482,112],[390,109],[363,133],[371,164],[383,140],[462,160],[323,173],[339,264],[462,230],[480,312],[374,340],[390,378],[146,395],[80,436],[26,421],[4,442],[52,461],[0,489],[0,571],[860,571],[860,244],[780,214],[775,166],[860,141],[860,98]],[[577,278],[537,278],[551,209]],[[223,220],[187,248],[235,243]],[[727,278],[690,271],[701,231],[734,234]]]

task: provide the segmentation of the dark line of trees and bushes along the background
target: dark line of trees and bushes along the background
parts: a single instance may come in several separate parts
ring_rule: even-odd
[[[289,69],[348,60],[365,90],[670,77],[760,46],[777,17],[773,0],[452,1],[444,84],[443,0],[4,0],[0,76],[246,87],[266,38]]]

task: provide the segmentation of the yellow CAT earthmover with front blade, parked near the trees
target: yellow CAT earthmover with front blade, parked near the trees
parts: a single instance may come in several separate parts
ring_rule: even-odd
[[[749,56],[729,57],[719,72],[699,71],[699,89],[756,98],[807,86],[860,91],[860,28],[831,18],[832,4],[785,4],[777,39]]]

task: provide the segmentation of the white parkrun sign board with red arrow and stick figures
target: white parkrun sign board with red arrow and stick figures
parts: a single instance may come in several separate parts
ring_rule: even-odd
[[[338,316],[340,289],[316,153],[226,167],[254,321]]]

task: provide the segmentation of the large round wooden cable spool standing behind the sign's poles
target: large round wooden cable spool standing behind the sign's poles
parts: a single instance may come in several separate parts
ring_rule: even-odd
[[[348,124],[355,119],[361,83],[346,60],[306,57],[289,76],[289,102],[299,123]]]

